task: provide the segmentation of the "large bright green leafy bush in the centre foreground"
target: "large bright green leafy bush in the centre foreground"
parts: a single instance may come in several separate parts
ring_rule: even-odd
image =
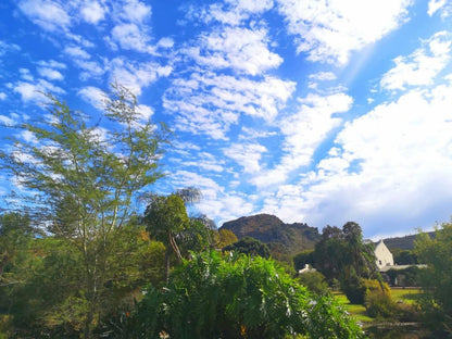
[[[194,254],[164,288],[148,290],[130,338],[363,338],[330,297],[314,297],[271,260]]]

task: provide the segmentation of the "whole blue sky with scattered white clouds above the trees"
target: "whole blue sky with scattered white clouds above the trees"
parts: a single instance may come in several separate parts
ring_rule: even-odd
[[[449,0],[7,0],[0,122],[39,91],[95,115],[117,80],[175,131],[154,190],[377,239],[452,215],[451,56]]]

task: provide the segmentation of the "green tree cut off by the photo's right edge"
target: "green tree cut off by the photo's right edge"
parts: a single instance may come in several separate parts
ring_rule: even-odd
[[[441,224],[435,235],[420,233],[415,240],[415,253],[427,264],[419,269],[420,307],[437,337],[448,338],[452,335],[452,222]]]

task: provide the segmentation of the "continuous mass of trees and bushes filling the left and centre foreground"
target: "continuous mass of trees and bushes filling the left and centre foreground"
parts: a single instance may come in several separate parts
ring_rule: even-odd
[[[273,260],[212,252],[237,238],[187,215],[196,189],[143,194],[162,176],[166,129],[129,90],[114,85],[96,121],[48,99],[45,120],[16,126],[34,138],[0,152],[22,188],[0,217],[2,337],[362,336]]]

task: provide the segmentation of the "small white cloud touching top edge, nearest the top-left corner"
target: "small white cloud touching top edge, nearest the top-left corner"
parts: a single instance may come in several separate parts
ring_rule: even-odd
[[[49,0],[24,0],[18,3],[28,18],[46,30],[65,30],[71,25],[71,16],[60,3]]]

